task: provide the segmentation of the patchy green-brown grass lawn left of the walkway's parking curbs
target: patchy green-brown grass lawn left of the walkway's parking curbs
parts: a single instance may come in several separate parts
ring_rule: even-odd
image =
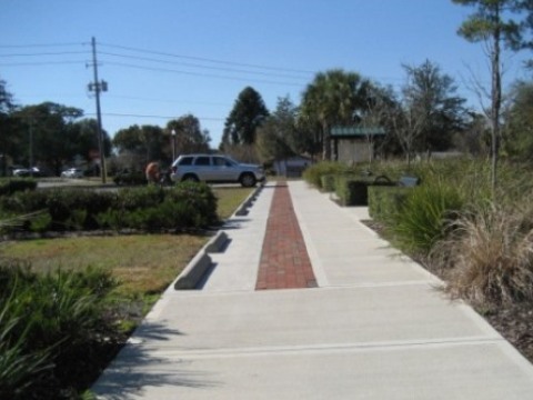
[[[218,214],[229,218],[252,192],[244,188],[213,189]],[[0,257],[28,262],[37,271],[58,267],[88,266],[112,271],[119,279],[117,291],[125,297],[143,297],[164,290],[205,244],[201,234],[131,234],[77,237],[4,242]]]

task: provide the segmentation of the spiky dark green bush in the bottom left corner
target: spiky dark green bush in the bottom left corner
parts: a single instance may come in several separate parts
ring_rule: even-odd
[[[63,366],[72,364],[71,351],[90,349],[98,332],[104,330],[104,300],[114,286],[102,270],[37,274],[29,266],[2,261],[0,398],[63,398],[54,382],[67,372],[61,370]]]

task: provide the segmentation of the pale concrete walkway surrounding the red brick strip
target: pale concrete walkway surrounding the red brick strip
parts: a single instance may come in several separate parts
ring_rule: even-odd
[[[94,384],[101,399],[533,399],[533,367],[440,281],[303,182],[318,288],[255,290],[274,184],[201,290],[171,286]]]

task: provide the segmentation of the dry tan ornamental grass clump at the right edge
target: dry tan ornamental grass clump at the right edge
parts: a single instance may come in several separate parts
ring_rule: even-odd
[[[446,290],[479,306],[533,300],[533,227],[527,216],[490,206],[455,221],[454,234],[439,247],[447,252],[451,267]]]

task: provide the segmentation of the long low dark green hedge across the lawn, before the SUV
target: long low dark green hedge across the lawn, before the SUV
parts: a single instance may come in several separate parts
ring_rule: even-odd
[[[150,186],[113,192],[88,189],[17,192],[0,197],[0,208],[7,214],[34,214],[22,223],[22,230],[33,232],[158,231],[205,228],[219,222],[217,198],[207,184],[195,182],[182,182],[169,189]],[[20,229],[19,224],[17,230]]]

